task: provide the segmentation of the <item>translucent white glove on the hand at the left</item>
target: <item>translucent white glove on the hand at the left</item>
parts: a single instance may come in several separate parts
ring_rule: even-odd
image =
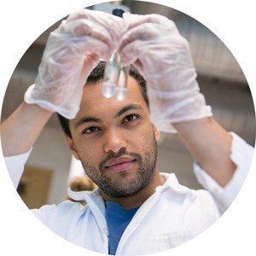
[[[84,83],[101,59],[108,60],[123,20],[101,11],[82,9],[49,34],[35,84],[25,102],[73,119],[79,111]]]

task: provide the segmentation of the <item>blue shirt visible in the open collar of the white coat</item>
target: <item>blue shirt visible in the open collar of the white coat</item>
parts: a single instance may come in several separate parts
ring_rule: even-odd
[[[108,254],[114,255],[121,236],[139,207],[127,210],[113,201],[106,201],[105,204],[108,225]]]

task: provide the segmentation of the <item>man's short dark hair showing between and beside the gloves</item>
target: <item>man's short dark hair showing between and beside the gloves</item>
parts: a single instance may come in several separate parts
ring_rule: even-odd
[[[104,77],[105,67],[106,67],[106,62],[100,61],[99,64],[90,73],[90,76],[88,77],[88,79],[86,81],[86,84],[97,84],[98,82],[102,81],[102,79]],[[129,74],[133,79],[137,80],[137,83],[142,92],[143,98],[144,98],[147,106],[149,107],[146,80],[137,71],[137,68],[134,67],[133,65],[130,66]],[[64,118],[63,116],[61,116],[61,114],[59,114],[59,113],[57,113],[57,116],[60,121],[62,130],[65,132],[65,134],[68,137],[72,138],[72,135],[71,135],[71,132],[69,129],[69,120]]]

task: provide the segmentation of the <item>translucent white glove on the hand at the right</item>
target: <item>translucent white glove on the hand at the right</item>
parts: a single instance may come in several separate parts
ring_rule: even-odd
[[[161,15],[123,15],[127,30],[119,44],[123,65],[133,63],[148,83],[150,117],[160,131],[172,123],[211,116],[196,81],[188,42]]]

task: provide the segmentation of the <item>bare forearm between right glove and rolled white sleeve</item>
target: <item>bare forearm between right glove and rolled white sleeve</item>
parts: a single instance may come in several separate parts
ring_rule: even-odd
[[[212,117],[172,125],[201,168],[221,187],[229,183],[236,171],[231,135]]]

